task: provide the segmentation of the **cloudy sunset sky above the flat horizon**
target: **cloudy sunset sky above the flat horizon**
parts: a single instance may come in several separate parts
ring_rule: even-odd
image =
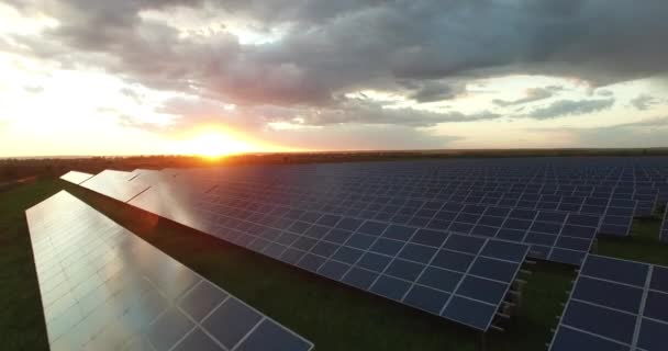
[[[0,157],[668,146],[665,0],[3,0]]]

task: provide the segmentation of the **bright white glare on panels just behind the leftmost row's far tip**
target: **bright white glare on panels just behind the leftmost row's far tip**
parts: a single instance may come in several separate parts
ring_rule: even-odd
[[[114,170],[104,170],[80,185],[102,195],[127,202],[148,189],[143,182],[131,182],[132,173]]]

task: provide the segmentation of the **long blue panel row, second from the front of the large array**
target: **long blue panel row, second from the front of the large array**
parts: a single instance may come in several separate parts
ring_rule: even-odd
[[[369,211],[375,200],[357,201],[347,206],[327,205],[331,197],[321,196],[303,201],[294,192],[271,192],[258,186],[234,186],[221,183],[203,195],[209,205],[199,207],[202,213],[222,214],[232,219],[238,217],[235,210],[264,216],[267,206],[280,206],[281,214],[270,214],[285,224],[274,224],[277,229],[288,229],[299,219],[291,212],[311,212],[319,216],[337,216],[356,220],[369,220],[412,228],[426,228],[443,233],[466,234],[479,237],[526,244],[531,246],[530,257],[579,265],[592,247],[600,217],[545,211],[513,210],[509,207],[466,205],[454,202],[416,202],[403,200],[394,206],[392,199],[380,199],[376,204],[382,208]],[[341,204],[345,204],[343,201]],[[390,204],[390,205],[388,205]],[[252,206],[253,208],[247,208]],[[356,207],[359,206],[359,207]],[[365,210],[367,208],[367,210]],[[289,223],[288,223],[289,222]],[[312,224],[300,219],[304,225]]]

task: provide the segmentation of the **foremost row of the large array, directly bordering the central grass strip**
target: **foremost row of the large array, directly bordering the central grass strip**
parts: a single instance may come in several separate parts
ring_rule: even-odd
[[[158,191],[160,188],[166,191]],[[207,218],[205,211],[192,211],[198,206],[207,207],[202,195],[186,194],[187,190],[174,191],[176,188],[175,184],[156,185],[130,204],[480,330],[490,327],[528,251],[527,246],[520,244],[443,231],[417,233],[417,228],[354,218],[336,219],[335,216],[312,218],[318,220],[320,230],[329,228],[316,239],[319,229],[314,223],[300,222],[300,226],[298,220],[288,219],[294,213],[285,212],[283,217],[276,217],[288,219],[282,220],[286,227],[282,230],[259,220],[225,216],[220,208],[208,207],[214,211],[209,212],[214,216]],[[182,195],[176,195],[175,202],[167,202],[166,194],[171,200],[175,194]],[[325,236],[329,240],[321,240]]]

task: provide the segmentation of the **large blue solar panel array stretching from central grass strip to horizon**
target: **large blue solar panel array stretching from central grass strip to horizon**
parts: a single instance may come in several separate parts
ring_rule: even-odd
[[[124,191],[97,191],[487,330],[525,256],[580,265],[597,234],[630,235],[633,217],[668,194],[664,165],[600,158],[135,170],[111,182]]]

